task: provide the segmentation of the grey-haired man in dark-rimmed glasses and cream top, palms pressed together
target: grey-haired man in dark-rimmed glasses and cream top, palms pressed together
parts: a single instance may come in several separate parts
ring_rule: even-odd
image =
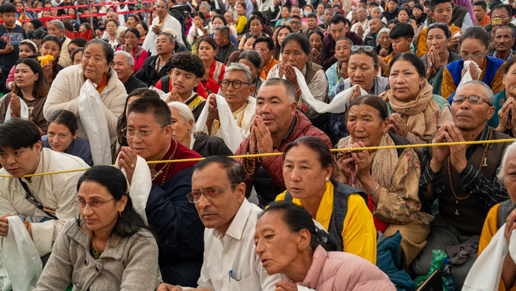
[[[231,114],[240,132],[234,132],[239,138],[244,139],[249,134],[252,119],[255,118],[256,98],[251,97],[255,92],[255,85],[251,84],[251,71],[249,67],[239,62],[234,62],[224,73],[224,79],[220,81],[220,91],[224,100],[229,105]],[[208,135],[220,137],[219,108],[215,96],[208,96],[210,102],[209,115],[206,120]]]

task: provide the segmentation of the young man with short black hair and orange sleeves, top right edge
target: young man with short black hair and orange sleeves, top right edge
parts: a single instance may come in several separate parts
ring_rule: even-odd
[[[448,28],[451,32],[450,46],[458,45],[460,36],[455,36],[455,33],[462,32],[462,30],[451,23],[451,15],[453,14],[451,0],[432,0],[430,2],[430,10],[430,17],[435,20],[435,22],[448,23]],[[422,32],[419,34],[418,40],[416,41],[418,44],[418,57],[427,54],[429,50],[427,45],[427,30],[428,27],[425,27],[424,30],[422,30]]]

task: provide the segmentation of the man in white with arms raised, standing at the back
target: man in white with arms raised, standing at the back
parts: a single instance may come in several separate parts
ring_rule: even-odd
[[[169,13],[169,3],[166,0],[159,0],[155,5],[155,13],[158,15],[152,20],[152,25],[149,26],[149,32],[145,37],[143,42],[143,49],[146,51],[152,51],[152,56],[157,55],[158,53],[155,50],[156,41],[158,40],[158,35],[165,30],[166,28],[171,28],[175,32],[175,40],[184,45],[182,34],[181,23],[178,19],[175,19]]]

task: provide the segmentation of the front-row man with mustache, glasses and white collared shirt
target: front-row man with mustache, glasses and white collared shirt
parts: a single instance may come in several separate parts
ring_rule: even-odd
[[[226,156],[195,164],[192,192],[204,230],[204,263],[197,288],[276,290],[279,275],[268,275],[256,254],[254,233],[261,209],[245,198],[241,165]],[[163,283],[158,290],[186,290]]]

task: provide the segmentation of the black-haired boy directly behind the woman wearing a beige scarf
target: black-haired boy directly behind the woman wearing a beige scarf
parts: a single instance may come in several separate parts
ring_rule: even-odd
[[[392,27],[391,32],[389,32],[389,36],[391,37],[392,52],[385,58],[378,58],[379,65],[384,72],[383,75],[387,75],[389,63],[396,54],[410,52],[410,44],[414,37],[413,26],[409,23],[398,23]]]

